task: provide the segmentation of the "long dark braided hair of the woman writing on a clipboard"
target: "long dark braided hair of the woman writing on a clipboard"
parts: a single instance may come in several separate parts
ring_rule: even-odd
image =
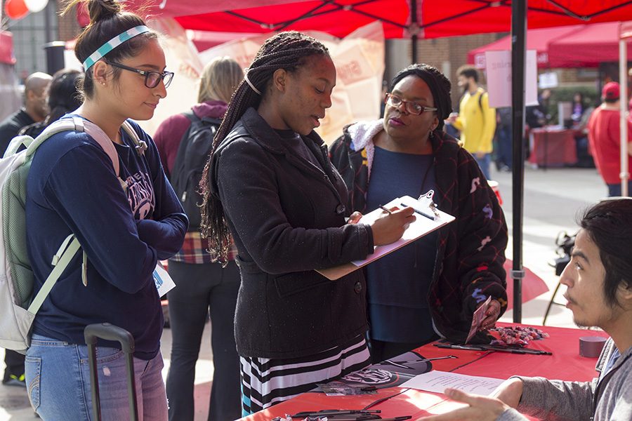
[[[312,55],[327,55],[329,51],[320,41],[311,36],[301,34],[301,32],[289,31],[280,32],[268,38],[263,46],[259,48],[246,76],[232,98],[226,109],[224,119],[213,138],[213,147],[209,160],[204,166],[202,180],[199,182],[199,189],[202,193],[202,223],[200,230],[203,236],[209,238],[209,251],[215,255],[223,265],[228,263],[228,252],[231,241],[228,225],[224,218],[222,203],[218,196],[211,193],[211,181],[209,171],[211,160],[215,155],[218,145],[226,138],[228,133],[235,126],[235,123],[242,118],[246,109],[258,107],[262,96],[268,95],[268,86],[272,79],[272,74],[278,69],[287,72],[296,72],[305,61]],[[254,88],[261,92],[261,95],[254,91]]]

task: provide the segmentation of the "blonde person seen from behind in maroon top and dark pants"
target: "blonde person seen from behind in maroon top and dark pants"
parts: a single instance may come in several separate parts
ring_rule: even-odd
[[[216,58],[204,67],[198,102],[192,113],[198,119],[222,119],[233,91],[244,77],[235,60]],[[189,132],[195,116],[176,114],[162,122],[154,135],[166,175],[174,181],[178,147]],[[209,142],[213,139],[210,138]],[[175,185],[174,185],[175,186]],[[182,199],[182,198],[180,198]],[[198,215],[199,218],[199,215]],[[195,220],[195,218],[191,218]],[[171,366],[166,379],[169,420],[193,420],[193,381],[202,332],[211,315],[213,329],[213,387],[209,420],[235,420],[241,417],[239,357],[235,346],[233,319],[239,290],[239,270],[232,253],[222,268],[209,253],[208,239],[202,238],[199,226],[191,224],[183,248],[169,260],[169,274],[178,288],[167,294],[169,322],[173,343]]]

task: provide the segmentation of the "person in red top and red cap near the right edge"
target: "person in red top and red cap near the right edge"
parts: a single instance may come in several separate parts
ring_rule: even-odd
[[[588,142],[601,178],[608,187],[608,196],[621,196],[621,112],[619,83],[603,86],[603,104],[597,107],[588,121]],[[628,119],[628,168],[632,168],[632,121]],[[628,195],[632,182],[628,180]]]

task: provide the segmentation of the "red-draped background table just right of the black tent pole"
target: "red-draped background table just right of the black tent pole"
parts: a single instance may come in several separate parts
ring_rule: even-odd
[[[541,167],[559,167],[577,163],[575,131],[570,129],[534,128],[529,163]]]

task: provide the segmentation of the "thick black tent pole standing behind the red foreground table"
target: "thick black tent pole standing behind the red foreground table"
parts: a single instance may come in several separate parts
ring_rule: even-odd
[[[525,183],[525,62],[527,0],[511,2],[511,111],[513,134],[513,322],[522,321],[522,202]]]

